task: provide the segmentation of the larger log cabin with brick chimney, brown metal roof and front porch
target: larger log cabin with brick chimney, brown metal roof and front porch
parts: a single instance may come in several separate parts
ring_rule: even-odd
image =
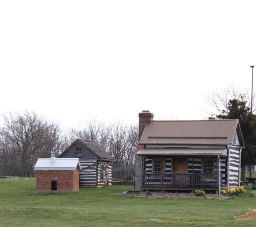
[[[139,113],[135,189],[205,190],[240,186],[244,140],[238,119],[153,120]]]

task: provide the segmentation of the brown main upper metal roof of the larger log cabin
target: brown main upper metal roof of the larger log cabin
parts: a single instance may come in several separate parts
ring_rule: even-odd
[[[146,125],[140,144],[232,144],[236,130],[244,146],[238,119],[153,120]]]

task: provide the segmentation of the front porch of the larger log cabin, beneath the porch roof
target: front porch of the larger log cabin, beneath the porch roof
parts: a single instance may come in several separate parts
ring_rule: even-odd
[[[220,191],[227,187],[225,156],[144,155],[141,160],[142,190]]]

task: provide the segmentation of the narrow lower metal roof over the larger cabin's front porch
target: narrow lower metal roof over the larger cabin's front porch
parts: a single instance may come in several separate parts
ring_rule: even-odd
[[[144,148],[138,151],[138,155],[227,155],[226,148]]]

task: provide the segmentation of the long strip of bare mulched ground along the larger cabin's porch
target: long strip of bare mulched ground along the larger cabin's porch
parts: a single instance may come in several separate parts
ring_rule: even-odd
[[[148,195],[146,192],[135,195],[136,197],[147,197],[147,198],[204,198],[210,200],[226,200],[231,198],[230,196],[216,195],[216,194],[205,194],[203,196],[196,196],[195,193],[156,193],[152,192]]]

